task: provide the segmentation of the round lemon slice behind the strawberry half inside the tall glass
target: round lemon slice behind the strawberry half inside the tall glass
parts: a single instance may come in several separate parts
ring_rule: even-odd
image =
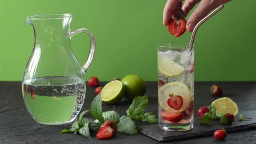
[[[183,104],[180,109],[171,108],[167,101],[170,99],[169,94],[179,95],[183,99]],[[179,113],[185,111],[191,102],[191,92],[187,85],[180,82],[167,83],[158,89],[158,103],[160,107],[168,112]]]

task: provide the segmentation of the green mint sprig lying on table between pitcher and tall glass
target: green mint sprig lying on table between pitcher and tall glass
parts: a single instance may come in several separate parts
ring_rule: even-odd
[[[138,96],[133,99],[129,109],[126,110],[127,116],[120,117],[116,111],[102,112],[101,93],[99,93],[91,103],[91,109],[80,113],[79,119],[75,120],[69,130],[63,129],[61,133],[80,133],[81,135],[91,138],[90,131],[99,131],[101,124],[107,120],[112,120],[117,125],[117,131],[126,134],[138,134],[134,120],[139,120],[147,123],[157,123],[157,118],[152,112],[144,113],[148,105],[147,96]],[[86,113],[90,112],[96,119],[91,125],[91,120],[84,117]]]

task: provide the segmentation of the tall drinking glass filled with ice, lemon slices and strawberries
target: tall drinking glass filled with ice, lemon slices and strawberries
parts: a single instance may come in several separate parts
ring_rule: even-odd
[[[189,43],[158,45],[158,120],[165,131],[193,128],[194,46]]]

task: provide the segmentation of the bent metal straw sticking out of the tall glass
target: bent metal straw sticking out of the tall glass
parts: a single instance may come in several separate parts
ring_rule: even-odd
[[[195,33],[197,32],[198,27],[203,24],[205,21],[207,21],[208,19],[210,19],[215,13],[217,13],[218,11],[220,11],[222,8],[224,8],[224,5],[219,6],[218,8],[216,8],[214,11],[212,11],[210,14],[208,14],[207,16],[205,16],[205,18],[203,18],[201,21],[199,21],[197,23],[197,25],[195,26],[193,32],[192,32],[192,36],[189,42],[189,51],[192,50],[192,45],[194,43],[195,40]]]

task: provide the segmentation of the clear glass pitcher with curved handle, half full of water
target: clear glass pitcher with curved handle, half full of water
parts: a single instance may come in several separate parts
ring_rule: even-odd
[[[37,123],[60,125],[77,117],[85,99],[85,72],[95,53],[95,38],[84,28],[70,30],[73,15],[39,14],[28,16],[35,44],[27,63],[22,94],[27,110]],[[88,60],[80,66],[70,39],[80,32],[91,38]]]

